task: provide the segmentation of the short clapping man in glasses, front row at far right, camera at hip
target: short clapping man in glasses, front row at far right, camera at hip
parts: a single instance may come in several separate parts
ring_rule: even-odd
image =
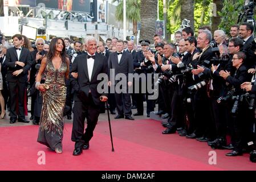
[[[233,118],[230,123],[234,150],[227,153],[226,156],[242,155],[242,149],[245,146],[245,135],[248,132],[246,131],[246,126],[251,121],[250,110],[248,109],[245,96],[242,95],[243,90],[240,88],[243,82],[250,80],[247,75],[247,69],[243,64],[243,60],[245,59],[245,53],[237,52],[232,59],[233,67],[236,69],[234,75],[230,75],[230,72],[224,70],[220,71],[220,76],[233,86],[234,96],[236,96],[231,110]]]

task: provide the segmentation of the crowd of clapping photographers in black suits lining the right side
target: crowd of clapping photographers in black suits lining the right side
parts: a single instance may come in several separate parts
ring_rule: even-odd
[[[156,114],[168,116],[162,134],[178,131],[180,136],[207,142],[213,149],[230,149],[226,156],[255,149],[253,31],[250,23],[234,25],[227,38],[222,30],[212,36],[205,26],[195,38],[192,28],[186,27],[176,32],[176,45],[157,43],[156,56],[146,55],[160,73]],[[253,157],[255,160],[255,151]]]

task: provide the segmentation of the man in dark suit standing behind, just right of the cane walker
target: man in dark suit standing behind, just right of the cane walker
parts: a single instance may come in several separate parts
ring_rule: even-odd
[[[114,69],[115,77],[119,73],[123,73],[126,76],[126,80],[128,80],[128,74],[133,73],[133,60],[132,54],[124,51],[124,42],[123,40],[117,40],[116,43],[117,52],[113,52],[108,57],[108,67],[109,69]],[[112,80],[112,79],[111,79]],[[112,86],[116,85],[117,82],[121,80],[115,81]],[[110,86],[111,86],[110,84]],[[115,98],[116,98],[116,106],[118,115],[115,119],[124,118],[134,120],[131,117],[132,114],[132,104],[131,104],[131,94],[128,93],[128,86],[132,86],[132,80],[128,80],[127,85],[122,85],[125,88],[121,88],[124,90],[121,93],[117,93],[115,90]]]

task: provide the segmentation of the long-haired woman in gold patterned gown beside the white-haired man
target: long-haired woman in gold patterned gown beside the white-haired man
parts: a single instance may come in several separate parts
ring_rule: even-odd
[[[56,153],[62,153],[65,77],[68,78],[69,73],[69,60],[65,50],[63,39],[51,40],[49,52],[41,62],[35,84],[36,89],[43,95],[38,142]],[[43,72],[46,74],[46,80],[44,84],[40,84]]]

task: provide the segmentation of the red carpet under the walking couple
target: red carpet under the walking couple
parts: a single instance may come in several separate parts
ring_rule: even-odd
[[[111,151],[108,122],[99,122],[90,149],[73,156],[71,124],[66,124],[63,154],[48,151],[36,142],[38,126],[0,128],[0,170],[255,170],[249,155],[228,158],[227,150],[216,150],[217,165],[208,164],[210,147],[206,143],[162,135],[160,122],[113,121],[112,133],[115,152]],[[45,151],[46,164],[38,164],[38,152]]]

